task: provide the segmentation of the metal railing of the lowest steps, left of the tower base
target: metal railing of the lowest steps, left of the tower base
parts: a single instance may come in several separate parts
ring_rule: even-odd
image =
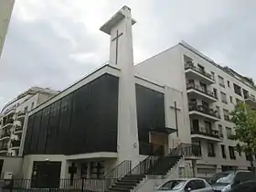
[[[112,187],[112,185],[121,179],[123,176],[128,174],[132,168],[132,161],[123,161],[121,164],[114,167],[110,172],[108,172],[104,178],[107,178],[106,188]]]

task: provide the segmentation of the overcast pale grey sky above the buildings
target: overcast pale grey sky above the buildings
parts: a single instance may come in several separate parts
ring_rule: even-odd
[[[31,86],[62,90],[109,58],[99,30],[132,9],[134,62],[185,40],[256,80],[254,0],[16,0],[0,59],[0,108]]]

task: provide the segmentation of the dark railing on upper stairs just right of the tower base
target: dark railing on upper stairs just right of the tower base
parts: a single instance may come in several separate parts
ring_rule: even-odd
[[[164,146],[160,146],[152,155],[148,155],[144,161],[136,165],[127,175],[128,176],[143,176],[146,175],[150,168],[155,166],[164,154],[160,156],[164,151]]]

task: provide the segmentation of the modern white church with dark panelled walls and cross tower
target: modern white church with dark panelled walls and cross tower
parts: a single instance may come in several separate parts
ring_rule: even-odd
[[[23,178],[57,184],[70,177],[103,178],[123,162],[131,170],[160,148],[168,156],[170,149],[191,144],[185,73],[172,75],[184,66],[153,71],[150,64],[134,65],[135,23],[123,6],[101,27],[110,37],[110,61],[28,112]]]

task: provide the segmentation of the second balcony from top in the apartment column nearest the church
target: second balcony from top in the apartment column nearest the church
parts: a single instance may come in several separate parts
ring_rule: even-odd
[[[207,91],[203,89],[201,86],[197,86],[193,83],[187,84],[187,94],[194,98],[200,98],[208,102],[218,101],[218,97],[214,94],[214,92]]]

